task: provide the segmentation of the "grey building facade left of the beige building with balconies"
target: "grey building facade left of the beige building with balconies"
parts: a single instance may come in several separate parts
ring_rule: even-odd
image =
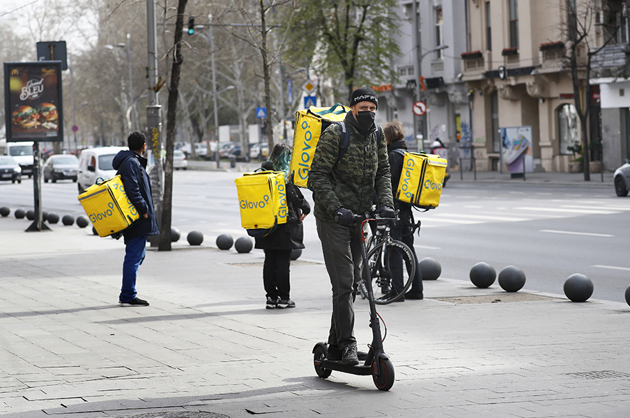
[[[472,139],[468,89],[460,74],[466,1],[400,0],[396,13],[401,56],[392,65],[399,82],[375,86],[379,122],[401,121],[413,150],[428,150],[439,138],[449,148],[449,165],[454,167],[459,145]],[[416,102],[425,106],[414,107]]]

